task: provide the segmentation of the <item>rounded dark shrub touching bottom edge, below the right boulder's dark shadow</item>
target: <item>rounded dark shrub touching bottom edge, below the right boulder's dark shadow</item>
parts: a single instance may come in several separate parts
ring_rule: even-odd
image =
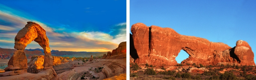
[[[233,73],[226,71],[224,74],[220,75],[220,79],[222,79],[222,80],[234,80],[234,79],[237,79],[237,78]]]

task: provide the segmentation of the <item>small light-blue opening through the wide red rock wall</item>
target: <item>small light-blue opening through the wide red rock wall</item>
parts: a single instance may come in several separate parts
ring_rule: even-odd
[[[177,61],[177,63],[181,63],[181,61],[187,59],[189,57],[188,53],[185,52],[184,50],[180,50],[180,52],[178,53],[177,57],[175,58],[175,60]]]

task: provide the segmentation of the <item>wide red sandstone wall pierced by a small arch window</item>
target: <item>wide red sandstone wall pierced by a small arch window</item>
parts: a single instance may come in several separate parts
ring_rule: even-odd
[[[181,64],[255,65],[252,49],[243,40],[238,40],[232,48],[224,43],[180,35],[172,28],[147,27],[143,23],[133,24],[131,32],[130,55],[135,59],[133,62],[138,64],[176,65],[175,58],[180,50],[184,50],[189,57]]]

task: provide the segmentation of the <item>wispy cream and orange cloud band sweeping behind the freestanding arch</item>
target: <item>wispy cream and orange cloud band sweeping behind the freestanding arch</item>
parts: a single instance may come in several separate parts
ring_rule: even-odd
[[[3,6],[2,6],[3,7]],[[25,27],[28,21],[33,21],[45,29],[46,35],[49,38],[51,49],[60,51],[88,51],[88,52],[106,52],[115,49],[119,43],[126,41],[126,23],[117,23],[115,30],[110,32],[101,31],[82,31],[82,32],[65,32],[65,27],[50,27],[44,22],[34,20],[27,15],[15,15],[13,12],[18,12],[5,6],[5,9],[0,9],[0,45],[7,43],[13,47],[14,37],[18,31]],[[87,8],[86,8],[87,9]],[[90,9],[90,8],[88,8]],[[21,13],[20,14],[26,14]],[[69,26],[69,25],[63,25]],[[122,26],[122,28],[119,26]],[[71,30],[71,29],[68,29]],[[111,33],[111,34],[110,34]],[[116,33],[113,35],[113,33]],[[36,42],[31,42],[27,48],[40,47]],[[36,46],[36,47],[35,47]]]

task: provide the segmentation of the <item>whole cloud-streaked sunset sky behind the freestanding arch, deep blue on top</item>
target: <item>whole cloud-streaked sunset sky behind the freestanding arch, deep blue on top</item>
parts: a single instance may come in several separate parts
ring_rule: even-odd
[[[126,41],[125,0],[0,1],[0,47],[13,49],[27,21],[46,30],[51,50],[106,52]]]

